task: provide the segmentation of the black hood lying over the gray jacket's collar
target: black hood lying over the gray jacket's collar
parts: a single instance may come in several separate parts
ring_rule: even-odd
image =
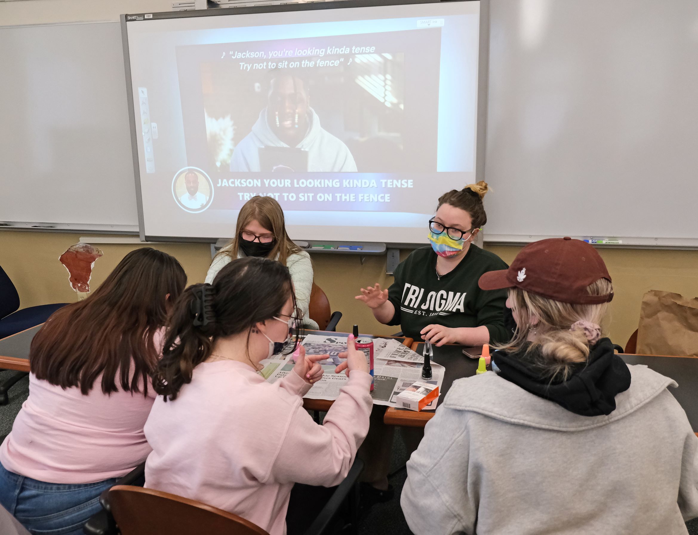
[[[614,354],[611,340],[602,338],[589,353],[587,363],[575,364],[566,381],[551,381],[540,364],[537,349],[526,353],[528,346],[517,352],[495,352],[493,363],[500,377],[522,389],[556,402],[574,414],[600,416],[616,409],[616,394],[630,388],[630,370],[620,356]]]

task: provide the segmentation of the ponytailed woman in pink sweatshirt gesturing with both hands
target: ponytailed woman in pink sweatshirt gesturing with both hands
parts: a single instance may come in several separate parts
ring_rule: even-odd
[[[188,287],[174,306],[145,425],[153,451],[148,488],[197,499],[285,532],[294,483],[337,485],[369,430],[371,375],[350,338],[335,372],[349,380],[318,425],[302,396],[322,377],[319,360],[297,347],[274,384],[260,361],[282,352],[297,316],[288,269],[273,260],[234,259],[212,285]],[[283,358],[283,357],[277,357]],[[290,361],[292,362],[292,361]]]

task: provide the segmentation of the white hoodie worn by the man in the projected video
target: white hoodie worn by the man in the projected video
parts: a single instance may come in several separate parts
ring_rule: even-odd
[[[310,108],[310,130],[296,145],[297,149],[308,151],[308,170],[324,172],[356,172],[356,163],[343,142],[320,128],[320,117]],[[237,144],[230,160],[231,171],[259,171],[259,149],[262,146],[288,146],[276,137],[267,124],[267,108],[260,112],[259,119],[251,133]]]

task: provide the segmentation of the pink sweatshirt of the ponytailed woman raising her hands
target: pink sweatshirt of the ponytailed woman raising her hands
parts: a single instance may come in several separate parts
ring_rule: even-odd
[[[371,376],[352,372],[323,425],[303,409],[295,372],[269,384],[237,361],[202,363],[174,401],[158,398],[145,435],[154,488],[285,533],[294,483],[337,485],[369,432]]]

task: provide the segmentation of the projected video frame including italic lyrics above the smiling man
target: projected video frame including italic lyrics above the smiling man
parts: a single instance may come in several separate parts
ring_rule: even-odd
[[[211,172],[436,171],[439,29],[177,52],[187,155],[205,140]]]

